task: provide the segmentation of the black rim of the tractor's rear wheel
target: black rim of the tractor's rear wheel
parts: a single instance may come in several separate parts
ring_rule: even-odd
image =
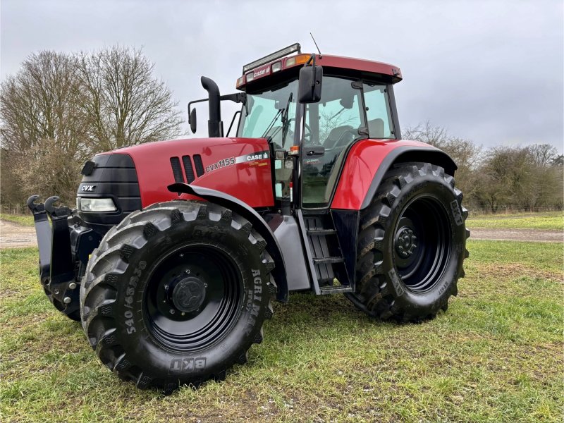
[[[446,209],[435,197],[422,196],[403,209],[393,238],[393,258],[398,274],[415,293],[441,281],[450,255],[452,230]]]

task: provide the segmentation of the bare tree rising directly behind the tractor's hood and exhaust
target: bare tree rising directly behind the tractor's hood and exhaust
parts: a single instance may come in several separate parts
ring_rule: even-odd
[[[88,136],[99,151],[180,135],[180,112],[140,49],[111,47],[78,58]]]

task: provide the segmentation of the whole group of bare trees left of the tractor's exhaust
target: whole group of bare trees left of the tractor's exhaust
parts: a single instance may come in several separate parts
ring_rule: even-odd
[[[73,204],[94,154],[178,137],[176,106],[141,49],[32,54],[1,82],[1,201],[37,193]]]

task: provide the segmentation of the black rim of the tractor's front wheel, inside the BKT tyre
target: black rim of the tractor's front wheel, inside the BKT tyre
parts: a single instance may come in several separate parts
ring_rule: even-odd
[[[223,338],[240,309],[242,280],[233,259],[217,247],[181,247],[152,269],[145,319],[165,348],[200,350]]]

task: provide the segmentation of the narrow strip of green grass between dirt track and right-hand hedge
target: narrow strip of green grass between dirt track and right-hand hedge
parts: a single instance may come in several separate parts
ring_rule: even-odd
[[[564,230],[564,212],[483,214],[470,216],[466,221],[469,228],[523,228]]]

